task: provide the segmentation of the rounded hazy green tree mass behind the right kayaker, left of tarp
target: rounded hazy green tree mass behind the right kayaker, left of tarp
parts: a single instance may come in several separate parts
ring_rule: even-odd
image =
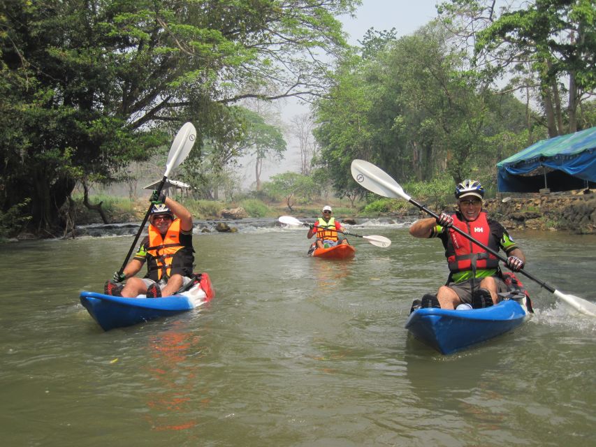
[[[349,175],[355,158],[402,182],[488,177],[525,133],[523,104],[495,95],[451,37],[439,23],[399,39],[368,34],[361,57],[342,60],[330,97],[317,104],[315,131],[319,166],[340,194],[356,186]]]

